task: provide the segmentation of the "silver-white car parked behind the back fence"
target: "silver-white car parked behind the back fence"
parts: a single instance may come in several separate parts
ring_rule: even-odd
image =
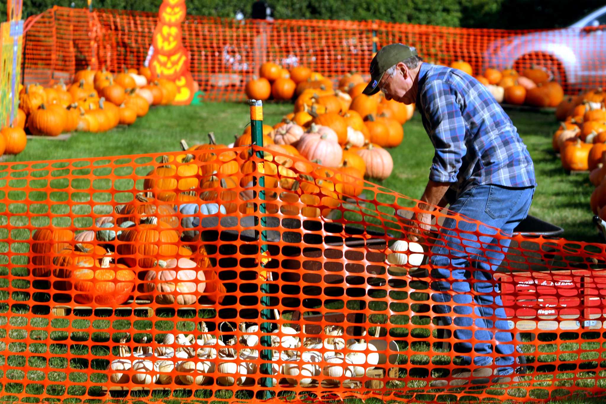
[[[565,88],[606,84],[606,6],[567,28],[513,35],[492,42],[484,68],[545,68]]]

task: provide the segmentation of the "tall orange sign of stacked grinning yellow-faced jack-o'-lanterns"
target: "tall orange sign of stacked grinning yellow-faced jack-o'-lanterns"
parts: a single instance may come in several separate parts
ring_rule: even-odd
[[[151,75],[175,81],[175,105],[191,104],[194,93],[193,78],[188,70],[189,56],[182,42],[181,23],[186,13],[184,0],[162,1],[158,25],[152,37],[153,55],[149,62]]]

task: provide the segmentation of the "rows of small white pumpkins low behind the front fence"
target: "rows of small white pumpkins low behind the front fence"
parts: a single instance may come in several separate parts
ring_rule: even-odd
[[[292,326],[291,326],[292,325]],[[299,332],[295,324],[282,325],[270,335],[273,386],[314,388],[321,385],[353,388],[377,366],[398,361],[398,343],[376,337],[345,337],[340,325],[324,326],[324,337]],[[165,334],[152,349],[146,337],[130,352],[120,341],[118,359],[108,366],[113,384],[110,391],[136,385],[255,386],[262,376],[258,369],[259,324],[240,322],[228,333],[213,334],[201,322],[202,333]],[[393,351],[390,354],[385,351]],[[279,363],[284,362],[284,363]],[[344,380],[342,380],[344,379]],[[357,383],[356,383],[357,382]]]

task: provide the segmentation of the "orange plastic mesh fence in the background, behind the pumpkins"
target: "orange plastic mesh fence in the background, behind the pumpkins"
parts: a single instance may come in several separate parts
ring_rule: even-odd
[[[99,67],[112,71],[138,67],[147,56],[157,19],[155,13],[125,10],[48,10],[27,31],[25,82],[71,77],[91,64],[93,56]],[[305,65],[338,79],[350,71],[366,73],[373,45],[381,48],[393,42],[417,47],[419,55],[433,63],[448,65],[463,59],[476,75],[488,67],[513,67],[522,72],[540,65],[567,93],[576,93],[606,84],[602,28],[513,31],[382,21],[236,21],[188,15],[182,38],[190,53],[191,74],[204,98],[242,101],[245,83],[258,74],[265,61],[287,68]]]

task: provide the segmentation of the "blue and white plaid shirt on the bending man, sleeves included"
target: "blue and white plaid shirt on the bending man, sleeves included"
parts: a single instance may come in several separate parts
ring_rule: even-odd
[[[423,63],[417,105],[436,152],[429,179],[470,185],[536,186],[530,154],[485,85],[460,70]]]

